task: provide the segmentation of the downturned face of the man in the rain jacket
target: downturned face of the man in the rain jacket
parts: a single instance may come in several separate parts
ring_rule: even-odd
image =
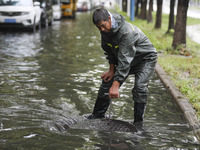
[[[100,21],[98,24],[96,24],[96,27],[102,32],[109,33],[111,31],[110,16],[108,21]]]

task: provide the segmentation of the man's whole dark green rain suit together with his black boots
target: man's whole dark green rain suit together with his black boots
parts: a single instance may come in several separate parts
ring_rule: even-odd
[[[102,48],[107,55],[110,64],[115,64],[115,75],[111,81],[102,84],[98,91],[98,97],[95,102],[93,114],[94,118],[101,118],[110,104],[108,96],[109,89],[114,81],[119,81],[121,84],[130,74],[135,75],[134,88],[132,89],[133,100],[135,101],[135,121],[142,115],[148,96],[148,82],[154,74],[157,63],[157,52],[146,35],[136,26],[125,21],[124,17],[117,14],[112,14],[112,17],[117,25],[112,27],[109,33],[101,32]],[[115,23],[114,26],[115,26]],[[138,106],[138,107],[136,107]]]

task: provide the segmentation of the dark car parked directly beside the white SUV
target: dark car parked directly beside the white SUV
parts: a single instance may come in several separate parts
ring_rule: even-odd
[[[41,24],[43,27],[48,27],[53,23],[53,8],[51,0],[36,0],[40,2],[40,7],[42,10],[41,14]]]

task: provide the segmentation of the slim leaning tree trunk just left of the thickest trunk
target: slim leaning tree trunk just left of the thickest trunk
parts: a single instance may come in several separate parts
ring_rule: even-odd
[[[170,32],[171,29],[174,29],[174,6],[175,6],[176,0],[170,0],[170,13],[169,13],[169,25],[168,25],[168,31]]]

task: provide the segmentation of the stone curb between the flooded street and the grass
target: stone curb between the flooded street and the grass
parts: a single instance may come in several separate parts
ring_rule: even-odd
[[[190,127],[193,128],[197,139],[200,141],[200,124],[195,114],[195,110],[188,103],[188,100],[183,96],[183,94],[177,89],[174,83],[171,81],[169,75],[162,69],[162,67],[157,63],[156,74],[164,84],[167,91],[172,95],[175,103],[183,113],[186,121],[189,123]]]

